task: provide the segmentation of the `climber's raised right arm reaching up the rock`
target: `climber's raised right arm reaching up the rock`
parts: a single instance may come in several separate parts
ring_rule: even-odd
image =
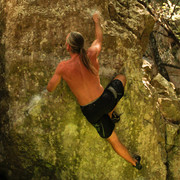
[[[100,15],[98,12],[93,14],[93,20],[95,24],[96,39],[94,40],[90,48],[96,51],[97,52],[96,55],[98,56],[101,51],[102,40],[103,40],[103,32],[100,24]]]

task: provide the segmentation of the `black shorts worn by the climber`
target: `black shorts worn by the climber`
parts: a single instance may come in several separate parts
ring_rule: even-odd
[[[108,113],[117,105],[124,95],[124,87],[120,80],[112,80],[104,89],[103,94],[94,102],[81,106],[82,113],[86,119],[96,128],[102,138],[111,136],[114,123]]]

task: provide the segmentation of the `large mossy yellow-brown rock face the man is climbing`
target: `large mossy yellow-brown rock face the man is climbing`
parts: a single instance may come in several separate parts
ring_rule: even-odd
[[[35,180],[178,179],[179,119],[176,124],[171,116],[165,120],[166,101],[159,98],[178,99],[175,92],[168,95],[173,89],[162,95],[161,86],[150,84],[151,67],[142,70],[154,25],[142,5],[134,0],[0,2],[2,175]],[[59,61],[68,59],[64,44],[70,31],[80,31],[86,47],[93,42],[95,10],[101,12],[104,35],[102,84],[120,72],[128,79],[117,107],[123,115],[116,132],[130,152],[142,156],[140,172],[98,136],[64,81],[52,94],[43,91]]]

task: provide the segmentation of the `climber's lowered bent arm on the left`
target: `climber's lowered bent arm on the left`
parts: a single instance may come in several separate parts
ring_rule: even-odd
[[[57,66],[56,71],[55,71],[53,77],[51,78],[51,80],[48,83],[47,90],[49,92],[52,92],[52,91],[54,91],[56,89],[57,85],[61,81],[61,76],[62,76],[61,75],[61,65],[59,63],[59,65]]]

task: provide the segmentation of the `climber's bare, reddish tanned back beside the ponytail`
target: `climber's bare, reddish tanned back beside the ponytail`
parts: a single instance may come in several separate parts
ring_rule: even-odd
[[[96,49],[93,46],[87,51],[93,66],[99,71],[96,54]],[[83,65],[78,54],[75,54],[70,60],[62,61],[58,68],[62,78],[67,82],[81,106],[92,102],[103,93],[104,88],[100,84],[98,72],[97,75],[90,72]]]

